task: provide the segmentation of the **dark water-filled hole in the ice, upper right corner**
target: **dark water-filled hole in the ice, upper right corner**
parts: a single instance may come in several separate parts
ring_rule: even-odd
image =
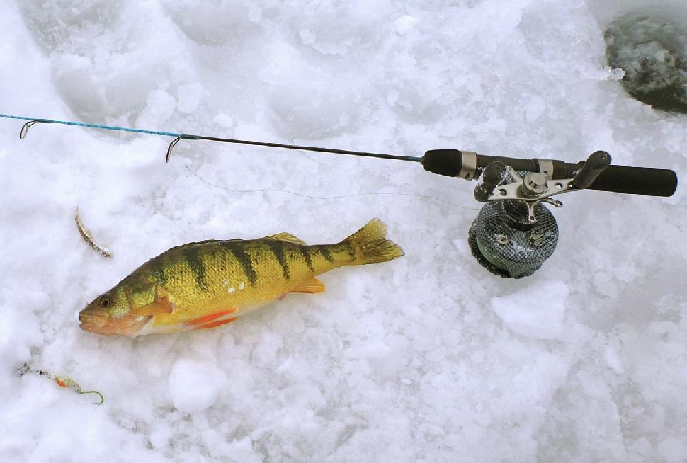
[[[611,67],[632,98],[652,108],[687,114],[687,33],[669,19],[640,14],[619,18],[605,34]]]

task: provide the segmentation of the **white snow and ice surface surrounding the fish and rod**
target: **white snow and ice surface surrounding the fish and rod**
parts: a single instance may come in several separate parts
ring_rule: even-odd
[[[0,112],[415,156],[606,149],[684,176],[687,118],[629,98],[603,55],[613,18],[666,3],[685,9],[8,0]],[[683,184],[567,195],[557,252],[504,280],[467,246],[474,183],[416,164],[189,141],[164,164],[164,137],[19,127],[0,120],[2,462],[687,460]],[[77,205],[112,260],[81,240]],[[406,256],[323,275],[322,295],[214,331],[79,329],[171,246],[327,243],[372,217]],[[23,362],[106,403],[18,377]]]

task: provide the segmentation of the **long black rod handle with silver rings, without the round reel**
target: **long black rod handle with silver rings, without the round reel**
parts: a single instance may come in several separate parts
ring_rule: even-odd
[[[470,159],[469,163],[464,162]],[[598,153],[598,152],[597,152]],[[603,152],[601,152],[603,153]],[[594,154],[593,154],[594,155]],[[610,159],[610,156],[608,156]],[[474,162],[472,162],[474,161]],[[586,163],[577,164],[557,159],[521,159],[500,156],[484,156],[458,149],[432,149],[425,153],[421,164],[426,171],[448,177],[478,178],[484,168],[494,161],[501,161],[516,171],[546,172],[552,179],[573,178],[584,171]],[[589,161],[589,160],[588,160]],[[596,161],[595,161],[596,162]],[[468,167],[467,164],[470,166]],[[475,168],[472,168],[472,165]],[[588,190],[612,191],[631,195],[671,196],[675,193],[678,178],[674,171],[662,168],[607,166],[598,172],[599,165],[589,166],[578,181],[589,181],[589,171],[595,175],[586,186]],[[552,170],[552,172],[548,172]],[[467,172],[467,173],[466,173]],[[585,182],[586,183],[586,182]],[[580,183],[584,185],[584,183]]]

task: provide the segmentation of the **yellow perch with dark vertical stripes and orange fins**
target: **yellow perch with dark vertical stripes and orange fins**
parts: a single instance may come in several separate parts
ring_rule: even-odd
[[[317,275],[334,268],[403,256],[386,234],[375,218],[336,244],[308,246],[283,232],[176,246],[96,297],[79,312],[80,327],[135,337],[230,324],[289,293],[324,292]]]

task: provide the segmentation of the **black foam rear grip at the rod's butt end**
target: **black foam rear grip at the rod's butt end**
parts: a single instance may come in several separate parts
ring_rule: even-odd
[[[672,196],[678,186],[674,171],[663,168],[608,166],[589,185],[589,190],[630,195]]]

